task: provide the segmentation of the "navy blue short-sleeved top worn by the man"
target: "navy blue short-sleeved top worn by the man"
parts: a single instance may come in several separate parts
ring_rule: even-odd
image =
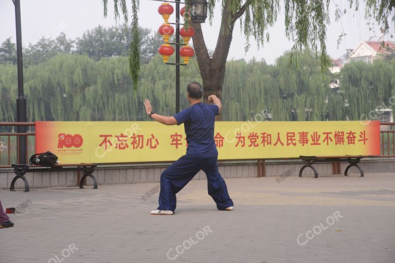
[[[188,142],[187,156],[218,157],[214,143],[214,121],[219,114],[220,108],[217,105],[206,105],[200,102],[174,115],[177,125],[184,123]]]

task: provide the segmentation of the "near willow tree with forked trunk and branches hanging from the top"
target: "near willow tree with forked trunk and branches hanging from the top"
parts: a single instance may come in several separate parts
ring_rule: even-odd
[[[114,0],[115,17],[120,17],[121,10],[125,21],[128,21],[128,10],[126,0]],[[107,14],[107,2],[103,0],[104,15]],[[134,41],[130,50],[130,73],[137,88],[139,74],[139,51],[138,51],[138,9],[139,0],[132,2],[132,34]],[[186,9],[190,0],[186,0]],[[350,8],[358,9],[358,1],[349,0]],[[298,51],[309,49],[320,59],[321,69],[325,69],[330,64],[330,59],[326,49],[326,29],[330,24],[329,13],[330,0],[284,0],[285,35],[288,40],[293,41],[291,58],[296,58]],[[387,23],[388,17],[393,17],[393,1],[368,0],[366,3],[367,16],[376,18],[379,23]],[[200,24],[192,23],[195,35],[192,37],[195,48],[197,62],[205,87],[204,98],[215,94],[222,97],[222,86],[225,77],[225,66],[228,58],[234,28],[237,22],[245,36],[246,48],[248,49],[250,39],[254,39],[258,47],[265,41],[269,41],[268,28],[277,21],[280,11],[279,0],[208,0],[209,21],[212,22],[213,10],[220,5],[221,28],[218,35],[217,46],[210,56],[205,44],[202,27]],[[337,5],[336,5],[337,6]],[[379,8],[379,9],[377,9]],[[338,8],[335,10],[336,20],[342,15]],[[185,12],[188,14],[188,12]],[[395,23],[395,18],[391,18]],[[186,26],[189,23],[186,24]],[[388,26],[384,26],[388,31]],[[291,59],[292,60],[292,59]]]

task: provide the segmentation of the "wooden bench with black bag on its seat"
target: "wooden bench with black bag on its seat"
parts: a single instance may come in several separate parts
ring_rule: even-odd
[[[97,180],[93,175],[95,168],[97,166],[96,163],[78,163],[78,164],[56,164],[52,167],[46,167],[41,165],[28,165],[28,164],[12,164],[14,168],[15,177],[11,181],[10,191],[15,191],[15,182],[17,179],[21,178],[25,183],[25,192],[29,192],[29,183],[25,178],[26,173],[32,172],[65,172],[65,171],[83,171],[84,176],[80,181],[80,188],[84,188],[84,181],[86,177],[91,177],[94,183],[93,189],[97,189]]]

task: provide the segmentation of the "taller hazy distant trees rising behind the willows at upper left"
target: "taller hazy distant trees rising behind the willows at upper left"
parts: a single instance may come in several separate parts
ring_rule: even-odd
[[[140,60],[142,64],[148,63],[157,53],[161,44],[161,37],[150,29],[139,28]],[[37,43],[29,44],[23,50],[23,65],[29,67],[37,65],[57,54],[86,54],[89,58],[99,61],[102,58],[127,57],[130,53],[130,43],[135,41],[131,34],[132,28],[124,25],[104,28],[98,26],[86,30],[81,37],[75,40],[67,39],[60,33],[56,39],[42,37]],[[0,46],[0,64],[16,64],[16,46],[10,38]]]

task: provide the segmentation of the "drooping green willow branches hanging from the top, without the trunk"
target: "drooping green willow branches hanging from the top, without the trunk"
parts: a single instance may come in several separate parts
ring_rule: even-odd
[[[138,9],[140,0],[132,1],[132,35],[134,41],[131,42],[130,53],[130,73],[136,88],[139,72],[139,47],[137,40],[139,32],[138,27]],[[123,2],[123,1],[122,1]],[[355,9],[359,7],[359,0],[349,0],[350,8],[355,4]],[[104,16],[107,14],[108,0],[103,0]],[[185,0],[185,5],[188,10],[190,0]],[[223,34],[231,34],[237,20],[245,35],[246,46],[248,50],[251,37],[257,42],[258,46],[263,45],[264,42],[270,40],[268,28],[273,26],[277,21],[277,15],[280,12],[279,0],[208,0],[208,17],[210,23],[213,19],[214,8],[221,5],[221,27],[224,27],[220,32]],[[122,7],[122,13],[125,22],[128,21],[128,10],[118,0],[114,0],[115,18],[119,19],[119,6]],[[292,40],[294,45],[292,47],[290,61],[298,58],[299,52],[305,49],[311,50],[316,58],[320,59],[321,72],[330,66],[331,60],[327,53],[326,37],[327,26],[330,24],[329,13],[330,0],[284,0],[285,13],[285,35],[289,40]],[[339,20],[342,12],[335,3],[335,22]],[[366,16],[373,17],[381,23],[382,31],[388,32],[388,19],[392,20],[395,26],[395,2],[393,0],[367,0],[366,2]],[[188,16],[188,12],[187,16]],[[185,22],[185,27],[189,26],[188,19]],[[338,44],[344,37],[345,33],[339,35]],[[230,38],[231,39],[231,38]],[[222,42],[227,39],[219,39]],[[225,43],[219,43],[218,46],[223,48]],[[200,47],[203,48],[203,47]],[[227,51],[229,48],[226,48]],[[218,50],[216,50],[218,51]],[[227,54],[227,52],[225,52]],[[197,52],[200,54],[200,52]],[[203,55],[203,53],[202,53]],[[223,58],[218,58],[225,64]],[[221,65],[222,66],[222,65]],[[222,77],[222,76],[220,76]],[[222,84],[222,83],[221,83]],[[221,91],[221,90],[218,90]]]

